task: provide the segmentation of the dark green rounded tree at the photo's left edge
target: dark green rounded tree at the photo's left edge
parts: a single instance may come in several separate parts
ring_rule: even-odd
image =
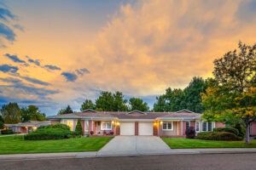
[[[1,114],[5,123],[13,124],[21,122],[21,111],[17,103],[9,103],[8,105],[3,105]]]

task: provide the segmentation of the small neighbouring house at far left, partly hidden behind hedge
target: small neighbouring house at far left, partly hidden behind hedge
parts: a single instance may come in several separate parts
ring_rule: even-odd
[[[12,129],[14,133],[31,133],[37,130],[38,127],[46,126],[51,124],[50,121],[29,121],[29,122],[19,122],[16,124],[5,124],[4,127]]]

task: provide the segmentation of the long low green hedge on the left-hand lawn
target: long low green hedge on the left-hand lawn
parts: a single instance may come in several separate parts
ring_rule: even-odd
[[[49,140],[49,139],[69,139],[76,137],[74,132],[61,128],[41,128],[35,132],[26,134],[26,140]]]

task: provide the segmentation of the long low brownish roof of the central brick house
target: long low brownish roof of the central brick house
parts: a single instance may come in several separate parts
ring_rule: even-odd
[[[68,118],[81,118],[81,119],[200,119],[201,114],[188,112],[188,111],[179,111],[179,112],[143,112],[143,111],[85,111],[85,112],[76,112],[71,114],[49,116],[51,119],[68,119]]]

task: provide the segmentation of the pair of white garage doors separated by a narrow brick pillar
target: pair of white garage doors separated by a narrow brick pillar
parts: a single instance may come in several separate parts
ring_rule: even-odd
[[[153,123],[120,122],[120,135],[153,135]]]

